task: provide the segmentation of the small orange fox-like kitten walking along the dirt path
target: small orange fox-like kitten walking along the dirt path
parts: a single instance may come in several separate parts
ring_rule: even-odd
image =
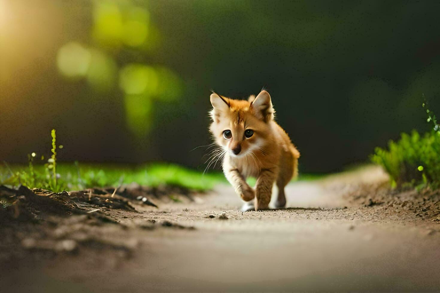
[[[265,90],[248,101],[211,94],[213,123],[209,130],[224,153],[223,172],[245,210],[268,209],[272,186],[278,195],[275,207],[286,206],[284,187],[298,173],[300,153],[275,122],[271,96]],[[246,177],[257,178],[255,191]]]

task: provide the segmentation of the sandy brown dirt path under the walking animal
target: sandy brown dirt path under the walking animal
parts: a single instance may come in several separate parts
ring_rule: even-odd
[[[439,203],[426,210],[429,200],[413,191],[385,202],[376,192],[384,180],[369,168],[293,183],[289,208],[261,212],[236,211],[241,202],[227,185],[143,213],[111,210],[125,224],[162,225],[109,230],[133,243],[130,257],[82,250],[8,264],[1,284],[15,292],[438,291]]]

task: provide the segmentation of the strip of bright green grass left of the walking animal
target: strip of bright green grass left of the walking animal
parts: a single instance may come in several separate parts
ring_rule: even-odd
[[[0,184],[22,184],[29,188],[46,188],[59,192],[90,187],[117,187],[136,182],[145,186],[167,184],[203,191],[225,181],[221,173],[202,174],[173,164],[129,166],[57,163],[57,184],[53,188],[53,178],[46,171],[46,166],[31,166],[0,166]]]

